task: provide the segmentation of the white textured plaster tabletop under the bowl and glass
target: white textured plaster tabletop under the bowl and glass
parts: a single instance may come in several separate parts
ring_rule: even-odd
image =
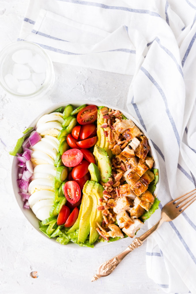
[[[0,1],[0,49],[16,41],[27,4],[27,0]],[[130,76],[57,63],[54,70],[53,91],[38,101],[19,100],[0,88],[0,293],[164,293],[147,276],[145,244],[130,253],[111,275],[91,283],[98,266],[132,240],[96,249],[53,243],[31,226],[16,203],[8,152],[39,113],[60,101],[86,99],[125,108]],[[145,230],[146,224],[140,233]],[[39,273],[37,279],[30,276],[34,270]]]

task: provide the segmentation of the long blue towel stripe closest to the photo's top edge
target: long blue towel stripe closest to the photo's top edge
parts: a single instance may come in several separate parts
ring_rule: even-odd
[[[124,7],[124,6],[109,6],[109,5],[105,5],[102,3],[89,2],[89,1],[79,1],[79,0],[58,0],[58,1],[69,2],[69,3],[73,3],[73,4],[88,5],[88,6],[96,6],[96,7],[101,7],[104,9],[114,9],[114,10],[123,10],[123,11],[135,12],[135,13],[141,13],[141,14],[149,14],[152,16],[161,17],[160,14],[158,14],[157,12],[146,10],[146,9],[135,9],[135,8],[129,8],[129,7]]]

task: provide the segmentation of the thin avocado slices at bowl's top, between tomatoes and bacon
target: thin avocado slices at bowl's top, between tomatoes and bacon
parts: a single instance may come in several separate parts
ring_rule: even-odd
[[[102,114],[100,113],[100,109],[98,109],[98,111],[97,111],[97,137],[98,137],[98,140],[97,140],[96,145],[103,148],[108,153],[108,156],[110,158],[112,158],[113,154],[112,154],[111,149],[109,149],[110,143],[107,140],[107,138],[105,138],[104,129],[101,128],[101,125],[103,123],[104,123],[104,118],[103,118]]]

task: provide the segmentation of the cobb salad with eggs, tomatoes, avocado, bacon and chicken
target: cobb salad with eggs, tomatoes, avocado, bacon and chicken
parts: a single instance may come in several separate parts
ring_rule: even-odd
[[[18,158],[24,209],[49,238],[93,247],[133,238],[158,208],[148,139],[119,110],[69,104],[28,128]]]

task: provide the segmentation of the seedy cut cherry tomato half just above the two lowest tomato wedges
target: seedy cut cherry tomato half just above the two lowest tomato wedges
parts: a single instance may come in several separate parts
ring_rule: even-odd
[[[76,203],[81,197],[81,190],[75,181],[68,181],[64,185],[64,195],[70,203]]]

